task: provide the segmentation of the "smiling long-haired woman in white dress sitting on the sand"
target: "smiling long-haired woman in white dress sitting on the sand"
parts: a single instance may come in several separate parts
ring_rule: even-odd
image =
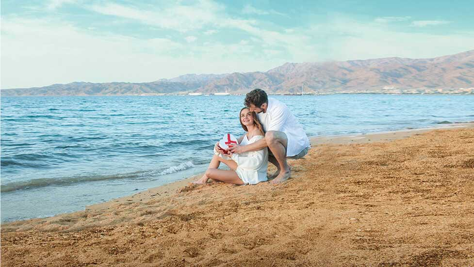
[[[248,145],[264,137],[255,112],[246,107],[240,110],[240,124],[246,134],[238,139],[240,145]],[[217,144],[216,144],[217,146]],[[219,170],[219,164],[225,163],[230,170]],[[242,154],[224,154],[214,146],[214,156],[206,173],[194,183],[206,184],[208,179],[218,180],[237,185],[256,184],[267,180],[268,150],[262,148],[257,151]]]

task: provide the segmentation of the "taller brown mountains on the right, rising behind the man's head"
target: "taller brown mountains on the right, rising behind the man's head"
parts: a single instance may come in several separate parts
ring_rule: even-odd
[[[233,73],[198,89],[212,93],[397,92],[474,88],[474,50],[433,59],[384,58],[316,63],[285,63],[265,73]]]

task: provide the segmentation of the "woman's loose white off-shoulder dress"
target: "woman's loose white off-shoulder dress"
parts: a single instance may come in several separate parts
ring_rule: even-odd
[[[239,145],[245,146],[262,138],[262,135],[255,135],[254,137],[250,138],[250,140],[248,140],[247,135],[245,134],[244,139],[242,139],[242,142]],[[219,157],[230,159],[228,156],[218,153],[215,149],[214,153],[219,155]],[[257,184],[267,180],[267,148],[262,148],[257,151],[244,152],[241,154],[232,154],[231,159],[237,163],[237,169],[235,172],[245,184]]]

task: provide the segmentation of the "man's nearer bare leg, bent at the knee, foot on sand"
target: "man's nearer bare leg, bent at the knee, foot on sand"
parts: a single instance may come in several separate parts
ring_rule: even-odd
[[[272,151],[275,160],[278,163],[279,173],[271,182],[273,184],[281,183],[290,178],[291,172],[286,162],[286,148],[288,147],[288,138],[286,134],[279,131],[268,131],[265,134],[265,140],[268,148]],[[270,157],[269,157],[270,160]]]

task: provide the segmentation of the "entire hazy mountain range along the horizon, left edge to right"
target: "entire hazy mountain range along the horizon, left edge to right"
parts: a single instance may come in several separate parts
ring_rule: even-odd
[[[185,74],[147,83],[55,84],[2,89],[2,96],[153,95],[202,92],[298,93],[474,93],[474,50],[433,59],[383,58],[285,63],[267,72]]]

